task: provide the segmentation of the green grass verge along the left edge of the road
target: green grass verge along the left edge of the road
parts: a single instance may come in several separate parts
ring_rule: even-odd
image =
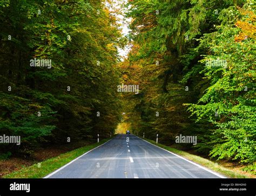
[[[99,143],[87,145],[82,148],[63,153],[62,155],[44,160],[43,162],[31,165],[29,167],[23,167],[21,170],[3,176],[3,178],[43,178],[49,173],[59,169],[59,167],[71,162],[71,160],[109,140],[110,138],[103,139]]]

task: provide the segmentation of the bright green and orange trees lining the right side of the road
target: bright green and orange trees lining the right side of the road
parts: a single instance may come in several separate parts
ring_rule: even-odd
[[[194,135],[198,144],[187,148],[255,162],[252,1],[132,1],[127,7],[133,47],[123,79],[140,86],[140,94],[124,97],[132,129],[152,139],[159,134],[167,144]]]

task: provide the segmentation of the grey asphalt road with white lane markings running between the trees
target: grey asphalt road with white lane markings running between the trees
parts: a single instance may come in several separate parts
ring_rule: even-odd
[[[126,138],[129,137],[129,141]],[[134,135],[119,134],[45,178],[221,178]]]

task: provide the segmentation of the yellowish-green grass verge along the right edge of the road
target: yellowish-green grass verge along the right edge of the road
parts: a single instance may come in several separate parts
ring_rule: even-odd
[[[169,146],[165,146],[163,144],[159,144],[159,143],[157,144],[156,142],[152,141],[151,139],[146,139],[146,138],[142,138],[142,139],[144,139],[147,142],[150,142],[151,144],[157,145],[165,150],[176,153],[177,155],[180,155],[188,160],[191,160],[194,163],[202,165],[212,171],[223,174],[227,178],[253,178],[251,174],[245,174],[244,171],[233,171],[233,170],[227,169],[224,166],[219,165],[218,163],[214,163],[211,160],[208,160],[206,158],[199,157],[197,155],[192,155],[188,152],[174,149]]]

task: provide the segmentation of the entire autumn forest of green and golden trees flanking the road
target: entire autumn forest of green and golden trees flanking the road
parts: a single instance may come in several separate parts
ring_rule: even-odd
[[[113,2],[0,0],[0,135],[21,136],[0,144],[0,157],[123,125],[255,170],[255,2]],[[131,19],[125,35],[118,15]]]

